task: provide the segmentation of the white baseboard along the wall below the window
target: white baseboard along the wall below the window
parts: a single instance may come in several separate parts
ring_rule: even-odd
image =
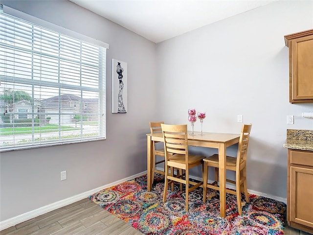
[[[136,178],[138,176],[144,175],[144,174],[147,174],[147,171],[143,171],[141,173],[132,175],[130,177],[127,177],[127,178],[115,181],[115,182],[113,182],[111,184],[104,185],[104,186],[101,186],[99,188],[94,188],[94,189],[91,189],[91,190],[89,190],[87,192],[83,192],[83,193],[80,193],[78,195],[66,198],[64,200],[61,200],[61,201],[58,201],[58,202],[55,202],[55,203],[51,203],[49,205],[46,205],[44,207],[35,209],[33,211],[28,211],[26,213],[20,214],[18,216],[13,217],[13,218],[0,221],[0,231],[2,231],[4,229],[7,229],[7,228],[10,228],[12,226],[15,226],[15,225],[17,225],[19,223],[22,223],[22,222],[26,221],[26,220],[35,218],[35,217],[37,217],[39,215],[45,214],[47,212],[50,212],[50,211],[53,211],[53,210],[56,210],[56,209],[59,209],[61,207],[64,207],[64,206],[67,206],[67,205],[72,204],[74,202],[77,202],[79,200],[85,199],[85,198],[89,197],[91,194],[93,194],[95,192],[98,192],[98,191],[101,191],[104,188],[110,188],[110,187],[112,187],[114,185],[118,185],[118,184],[123,183],[125,181],[132,180],[132,179],[134,179],[134,178]]]

